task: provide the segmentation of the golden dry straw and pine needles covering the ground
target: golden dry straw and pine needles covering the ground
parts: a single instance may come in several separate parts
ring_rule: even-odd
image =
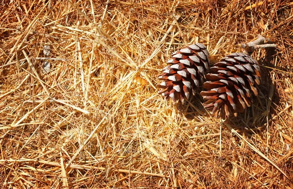
[[[0,13],[3,188],[293,188],[293,0],[2,0]],[[175,50],[202,42],[214,63],[258,34],[277,48],[253,54],[261,94],[245,113],[157,95]]]

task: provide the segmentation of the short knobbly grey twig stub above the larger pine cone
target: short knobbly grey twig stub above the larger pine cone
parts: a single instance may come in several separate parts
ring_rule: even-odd
[[[253,51],[259,48],[271,48],[276,47],[277,45],[273,44],[270,38],[265,38],[262,35],[258,35],[258,38],[254,41],[245,44],[242,43],[239,46],[243,48],[243,53],[250,56],[253,53]]]

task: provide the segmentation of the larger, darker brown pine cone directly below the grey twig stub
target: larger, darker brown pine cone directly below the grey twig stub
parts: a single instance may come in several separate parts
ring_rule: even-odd
[[[252,103],[252,94],[258,95],[260,69],[256,60],[243,53],[233,53],[222,58],[210,68],[200,94],[203,105],[216,116],[237,116]]]

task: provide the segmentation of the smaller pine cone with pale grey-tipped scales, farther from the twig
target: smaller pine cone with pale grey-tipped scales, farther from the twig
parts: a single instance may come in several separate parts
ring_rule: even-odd
[[[164,68],[158,79],[164,80],[157,85],[159,94],[166,99],[172,98],[173,103],[189,99],[196,89],[204,82],[204,75],[209,71],[209,53],[202,43],[196,43],[173,53],[169,64]]]

